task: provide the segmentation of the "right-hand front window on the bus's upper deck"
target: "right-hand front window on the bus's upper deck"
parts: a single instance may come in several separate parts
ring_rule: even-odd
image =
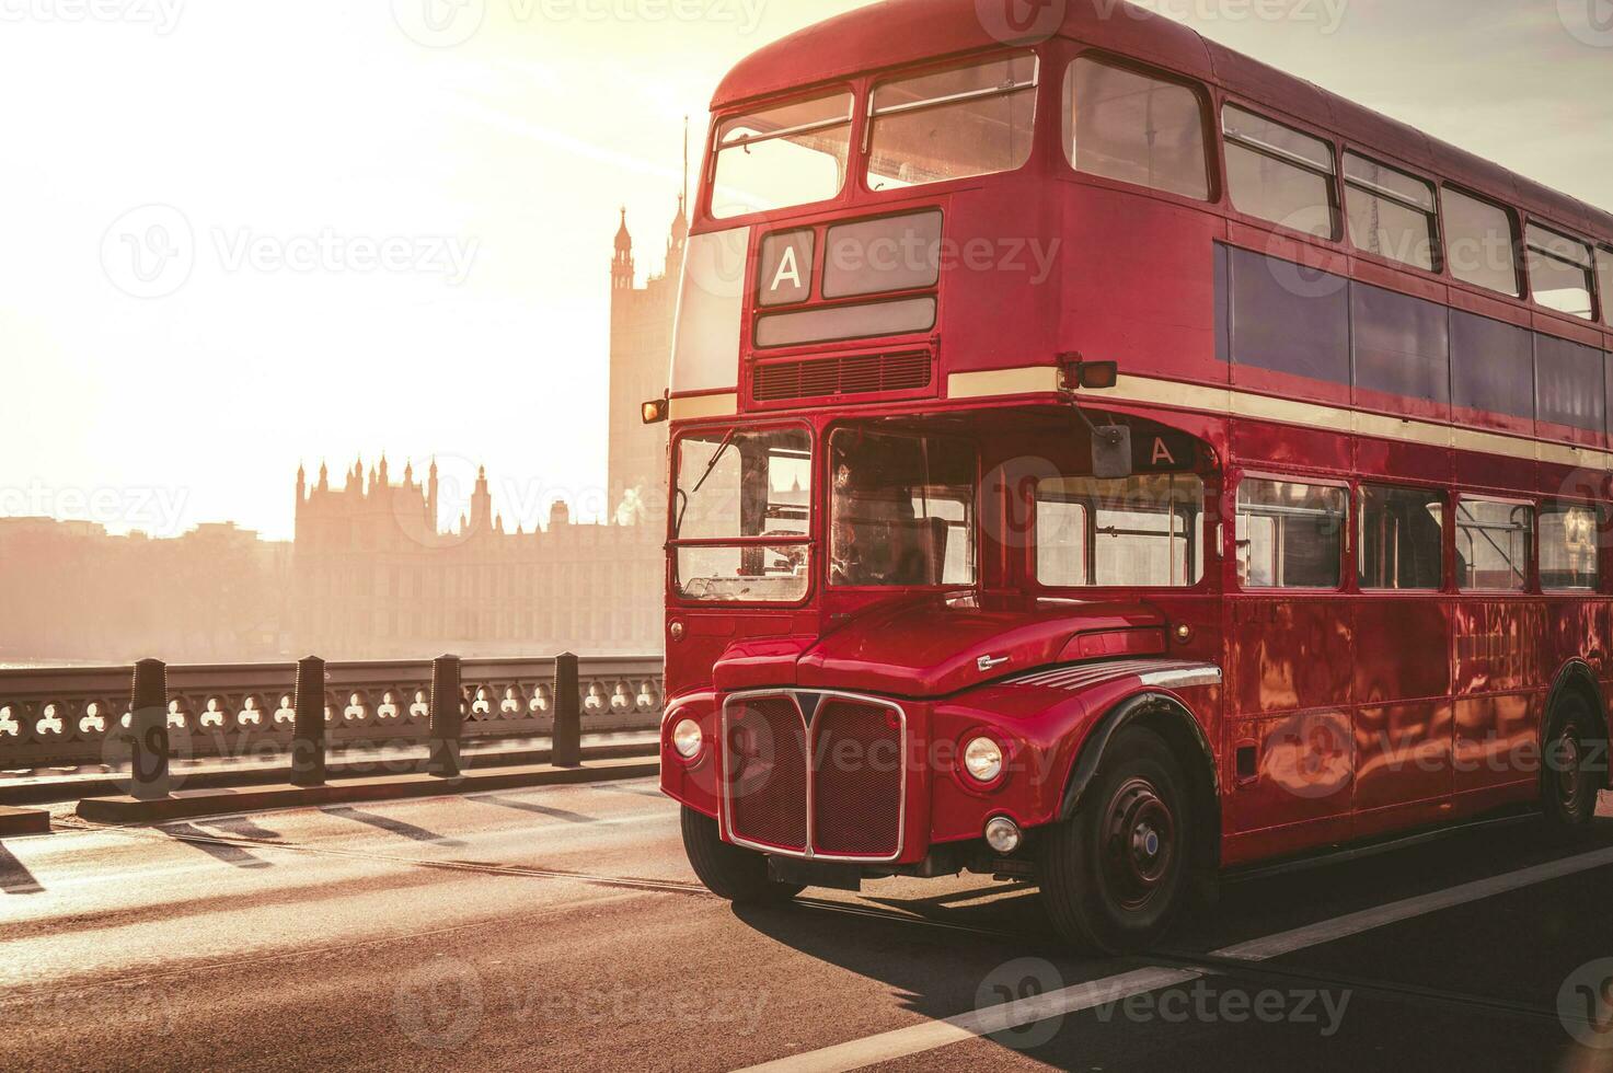
[[[1037,58],[1021,53],[881,82],[869,102],[868,186],[894,190],[1015,171],[1031,160]]]

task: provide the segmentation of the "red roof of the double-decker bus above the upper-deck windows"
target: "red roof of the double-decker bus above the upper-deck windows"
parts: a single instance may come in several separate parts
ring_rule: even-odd
[[[982,11],[1005,0],[881,0],[790,34],[742,60],[718,86],[713,111],[869,71],[1003,44]],[[1540,186],[1413,126],[1363,108],[1313,82],[1205,40],[1173,19],[1124,0],[1052,0],[1057,35],[1102,47],[1219,86],[1274,113],[1327,129],[1360,148],[1432,173],[1613,242],[1613,213]]]

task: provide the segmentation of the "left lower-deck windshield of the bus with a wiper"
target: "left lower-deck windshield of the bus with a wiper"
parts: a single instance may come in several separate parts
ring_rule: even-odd
[[[811,434],[692,432],[677,440],[677,591],[711,602],[794,603],[808,589]]]

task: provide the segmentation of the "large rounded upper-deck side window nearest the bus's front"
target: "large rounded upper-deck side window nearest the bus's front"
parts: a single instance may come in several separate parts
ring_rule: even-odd
[[[1076,171],[1210,200],[1205,106],[1187,86],[1082,56],[1065,79],[1065,129]]]

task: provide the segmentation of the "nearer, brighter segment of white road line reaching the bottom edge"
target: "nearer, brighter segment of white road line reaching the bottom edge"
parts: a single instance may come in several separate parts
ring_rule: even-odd
[[[1105,976],[1103,979],[1074,984],[1073,987],[1048,991],[1042,996],[990,1005],[984,1010],[971,1010],[958,1017],[948,1017],[944,1021],[926,1021],[913,1028],[898,1028],[879,1036],[866,1036],[834,1047],[779,1058],[777,1062],[752,1067],[745,1073],[831,1073],[836,1070],[860,1070],[879,1062],[890,1062],[934,1050],[936,1047],[945,1047],[947,1044],[976,1039],[977,1036],[989,1036],[1036,1021],[1045,1021],[1052,1017],[1065,1017],[1066,1013],[1077,1013],[1111,1002],[1124,1002],[1132,996],[1186,984],[1203,975],[1203,971],[1192,968],[1139,968],[1119,976]]]

